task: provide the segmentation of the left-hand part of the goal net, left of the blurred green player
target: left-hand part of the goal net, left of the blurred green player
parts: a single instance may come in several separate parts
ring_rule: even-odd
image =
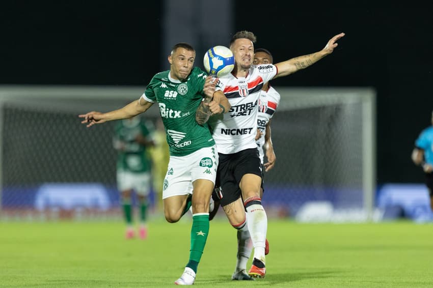
[[[119,87],[1,87],[3,218],[118,214],[115,122],[87,128],[78,114],[117,109],[143,92]],[[145,116],[153,122],[157,106]]]

